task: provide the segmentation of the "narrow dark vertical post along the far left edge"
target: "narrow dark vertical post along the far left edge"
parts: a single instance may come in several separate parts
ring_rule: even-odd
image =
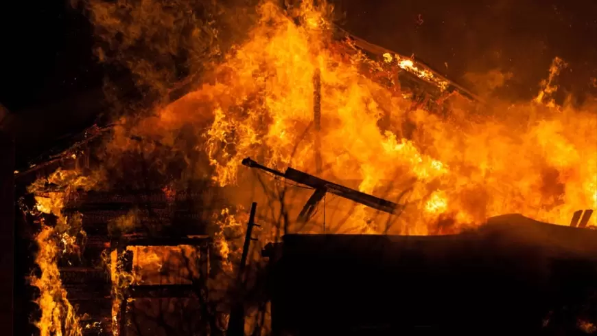
[[[5,335],[14,333],[13,289],[14,142],[0,133],[0,326]]]

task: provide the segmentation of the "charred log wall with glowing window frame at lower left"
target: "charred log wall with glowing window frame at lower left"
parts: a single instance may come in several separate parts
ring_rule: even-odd
[[[94,164],[93,155],[81,155],[80,148],[77,153],[80,155],[62,155],[17,174],[16,188],[21,195],[18,202],[21,209],[17,211],[30,207],[33,197],[56,197],[64,192],[49,183],[37,188],[34,194],[27,194],[25,186],[32,181],[51,175],[57,167],[81,170]],[[217,192],[209,190],[212,194],[214,191]],[[211,209],[205,208],[209,202],[202,186],[189,186],[185,192],[175,194],[174,190],[130,188],[122,184],[103,192],[80,190],[68,195],[62,199],[65,203],[61,212],[65,218],[80,216],[80,232],[69,236],[76,243],[63,241],[58,247],[65,251],[57,260],[49,261],[57,263],[60,278],[54,280],[60,282],[65,299],[74,307],[82,335],[124,336],[131,335],[130,328],[163,327],[156,326],[159,322],[152,322],[150,315],[141,322],[142,326],[131,322],[131,314],[148,309],[143,302],[175,302],[185,306],[189,313],[202,315],[200,309],[207,309],[204,303],[210,269],[212,272],[218,269],[218,260],[212,259],[209,267],[212,242],[206,223]],[[212,196],[217,197],[208,197]],[[17,225],[17,251],[28,257],[17,268],[17,274],[27,282],[18,281],[16,293],[38,300],[38,289],[29,282],[38,281],[40,272],[47,269],[36,265],[39,261],[32,258],[36,254],[32,247],[43,248],[32,246],[32,242],[40,227],[60,226],[60,223],[55,216],[40,217],[25,212]],[[67,251],[71,247],[76,250]],[[31,269],[34,271],[30,276]],[[36,322],[35,312],[27,304],[17,313],[16,333],[36,333],[34,326],[28,324]],[[141,321],[144,316],[139,317]],[[204,327],[199,320],[195,319],[194,328]],[[176,320],[163,321],[164,326],[168,323],[176,324]]]

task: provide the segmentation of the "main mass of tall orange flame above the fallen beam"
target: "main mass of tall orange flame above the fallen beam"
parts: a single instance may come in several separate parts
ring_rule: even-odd
[[[479,113],[454,98],[447,101],[451,112],[445,117],[412,109],[396,85],[370,78],[362,69],[374,62],[361,54],[347,56],[317,13],[303,1],[298,14],[303,24],[297,25],[276,5],[263,3],[248,41],[217,67],[215,82],[160,109],[134,132],[168,142],[163,134],[211,118],[204,147],[197,150],[207,150],[221,186],[243,184],[240,161],[247,156],[313,172],[318,69],[322,177],[360,181],[355,185],[360,190],[384,190],[388,199],[411,188],[395,232],[438,233],[436,223],[446,216],[454,219],[454,231],[508,212],[565,225],[575,210],[595,208],[595,108],[544,102],[554,91],[561,60],[554,61],[534,102],[493,102]],[[395,58],[399,68],[431,76],[392,55],[375,69]],[[370,210],[351,212],[350,221],[360,223],[355,227],[371,226]]]

